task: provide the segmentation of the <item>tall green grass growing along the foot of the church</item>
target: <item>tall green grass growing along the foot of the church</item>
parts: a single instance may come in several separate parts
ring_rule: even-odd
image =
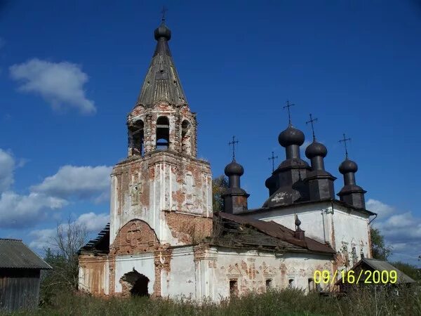
[[[298,289],[249,294],[230,301],[201,305],[189,298],[97,298],[59,292],[37,310],[13,315],[421,315],[418,287],[360,288],[346,296],[304,295]]]

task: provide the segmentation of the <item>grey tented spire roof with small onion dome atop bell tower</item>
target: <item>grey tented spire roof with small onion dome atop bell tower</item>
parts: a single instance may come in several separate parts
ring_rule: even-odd
[[[171,31],[165,24],[161,24],[155,30],[155,39],[157,41],[155,52],[136,105],[153,107],[159,101],[167,101],[173,105],[187,105],[187,99],[168,46]]]

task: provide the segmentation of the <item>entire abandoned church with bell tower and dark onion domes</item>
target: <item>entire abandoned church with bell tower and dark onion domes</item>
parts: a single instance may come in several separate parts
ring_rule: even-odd
[[[248,209],[243,167],[233,159],[223,210],[213,213],[210,164],[197,159],[191,112],[164,20],[133,110],[128,155],[111,174],[109,224],[79,251],[79,289],[98,296],[147,295],[220,301],[268,288],[333,291],[314,271],[352,268],[371,258],[370,216],[358,169],[346,155],[335,199],[327,150],[288,124],[279,134],[286,159],[266,180],[268,198]],[[344,138],[345,139],[345,138]],[[346,140],[346,139],[345,139]]]

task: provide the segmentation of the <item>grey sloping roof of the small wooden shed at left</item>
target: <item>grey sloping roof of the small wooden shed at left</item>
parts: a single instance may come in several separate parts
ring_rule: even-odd
[[[0,268],[52,269],[20,239],[0,238]]]

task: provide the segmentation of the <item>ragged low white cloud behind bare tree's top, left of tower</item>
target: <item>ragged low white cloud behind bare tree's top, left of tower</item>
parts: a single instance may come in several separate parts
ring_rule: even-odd
[[[102,228],[107,225],[109,221],[109,214],[100,213],[95,214],[93,212],[84,213],[79,216],[73,223],[81,224],[86,228],[88,233],[98,233]],[[67,230],[68,224],[60,224],[63,230]],[[29,246],[34,249],[54,249],[55,245],[53,243],[53,237],[57,234],[57,228],[48,228],[44,230],[32,230],[29,232],[32,242],[29,243]]]

